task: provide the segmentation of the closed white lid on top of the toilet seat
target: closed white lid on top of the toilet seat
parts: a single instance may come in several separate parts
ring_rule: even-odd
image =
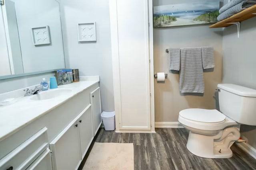
[[[185,109],[180,111],[180,116],[192,121],[202,123],[219,123],[225,120],[226,116],[218,110],[209,109]]]

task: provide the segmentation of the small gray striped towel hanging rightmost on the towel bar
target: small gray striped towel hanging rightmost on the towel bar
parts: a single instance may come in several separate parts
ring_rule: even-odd
[[[202,47],[203,68],[214,68],[214,49],[213,47]]]

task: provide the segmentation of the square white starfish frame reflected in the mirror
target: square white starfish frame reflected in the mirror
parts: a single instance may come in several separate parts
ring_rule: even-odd
[[[50,33],[49,33],[49,26],[43,27],[34,27],[32,28],[32,42],[33,45],[44,45],[50,44]]]

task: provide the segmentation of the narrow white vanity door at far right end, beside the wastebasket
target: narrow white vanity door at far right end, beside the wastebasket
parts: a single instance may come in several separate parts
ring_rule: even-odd
[[[93,130],[94,136],[96,135],[100,125],[102,123],[101,114],[101,103],[100,103],[100,88],[96,88],[90,93],[90,100],[92,104],[92,119],[93,119]]]

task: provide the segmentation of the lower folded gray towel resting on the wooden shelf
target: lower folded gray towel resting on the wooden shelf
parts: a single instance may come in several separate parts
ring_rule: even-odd
[[[251,6],[254,6],[256,4],[256,0],[244,0],[243,2],[229,8],[225,12],[221,13],[218,17],[218,21],[225,20],[226,18],[241,12],[242,10],[245,10],[246,8],[250,8]]]

